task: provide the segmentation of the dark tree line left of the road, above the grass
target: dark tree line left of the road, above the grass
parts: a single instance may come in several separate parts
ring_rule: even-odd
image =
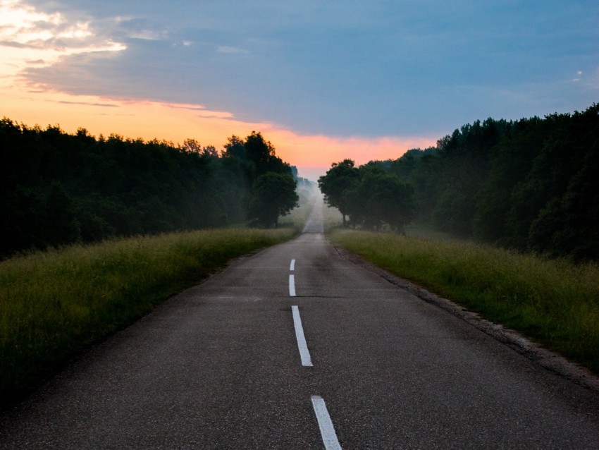
[[[252,132],[223,150],[0,121],[0,256],[69,243],[254,224],[297,205],[297,169]],[[296,175],[296,177],[293,176]]]

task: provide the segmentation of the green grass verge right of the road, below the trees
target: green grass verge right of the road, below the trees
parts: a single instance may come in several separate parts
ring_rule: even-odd
[[[599,373],[599,267],[487,245],[337,230],[331,240]]]

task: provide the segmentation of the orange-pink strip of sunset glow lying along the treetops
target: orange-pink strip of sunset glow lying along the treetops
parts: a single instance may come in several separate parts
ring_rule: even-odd
[[[193,138],[221,150],[230,135],[245,138],[253,130],[260,131],[279,157],[298,166],[300,176],[314,181],[333,162],[354,159],[364,164],[373,159],[396,159],[409,149],[436,143],[433,138],[299,135],[273,123],[237,121],[232,114],[193,104],[35,92],[16,89],[15,85],[0,87],[0,95],[3,116],[27,126],[59,125],[68,133],[82,127],[95,136],[116,133],[125,138],[156,138],[175,144]]]

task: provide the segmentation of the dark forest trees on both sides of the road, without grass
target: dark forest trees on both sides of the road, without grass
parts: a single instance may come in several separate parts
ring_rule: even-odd
[[[0,121],[0,257],[114,236],[277,226],[297,169],[260,133],[220,152]],[[301,180],[301,178],[300,178]],[[408,224],[504,248],[599,260],[599,104],[475,121],[395,160],[335,162],[319,187],[344,224]]]

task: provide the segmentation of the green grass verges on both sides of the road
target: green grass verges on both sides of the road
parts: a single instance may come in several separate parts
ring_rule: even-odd
[[[0,406],[232,258],[295,236],[313,195],[303,193],[301,206],[281,219],[285,228],[128,238],[0,262]],[[408,237],[342,230],[336,209],[323,212],[336,245],[599,373],[596,264],[544,260],[419,229],[408,229]]]

